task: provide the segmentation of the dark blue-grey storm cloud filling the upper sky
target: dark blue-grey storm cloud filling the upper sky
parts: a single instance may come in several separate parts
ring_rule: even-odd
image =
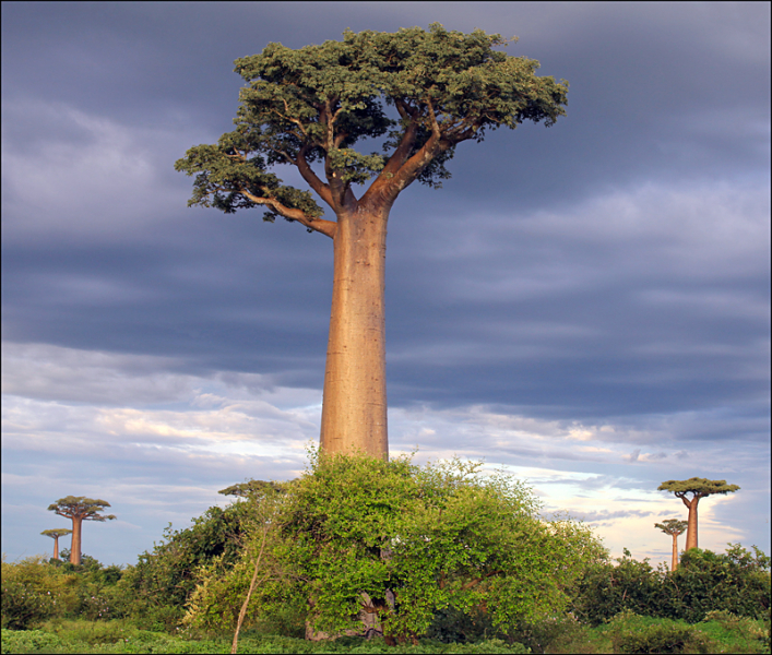
[[[581,198],[623,187],[637,176],[662,182],[678,170],[685,187],[694,178],[710,180],[718,168],[731,168],[733,176],[758,172],[765,156],[758,132],[768,94],[758,79],[749,82],[765,59],[726,36],[717,45],[711,40],[728,13],[737,29],[758,39],[753,10],[745,8],[743,20],[729,7],[699,15],[682,8],[664,13],[641,7],[563,8],[574,34],[560,21],[557,32],[549,29],[539,12],[528,31],[530,5],[522,20],[514,5],[486,7],[491,14],[476,14],[483,23],[500,25],[506,19],[515,32],[521,23],[525,28],[511,53],[530,53],[528,45],[534,56],[543,57],[543,50],[549,56],[545,72],[560,69],[572,82],[570,112],[551,130],[523,126],[514,134],[490,134],[482,145],[462,144],[452,165],[456,175],[444,190],[411,189],[397,202],[388,273],[392,403],[514,403],[548,407],[546,414],[597,417],[758,396],[757,377],[740,369],[758,359],[756,344],[767,320],[762,246],[734,253],[729,243],[735,257],[727,259],[718,252],[723,242],[705,246],[697,235],[725,223],[724,216],[706,227],[677,212],[665,219],[645,216],[667,212],[666,203],[631,210],[587,200],[591,206],[574,211],[573,222],[528,216],[535,207],[567,212]],[[262,3],[262,22],[247,5],[185,12],[164,4],[46,9],[34,28],[21,7],[4,10],[35,35],[22,43],[14,34],[25,31],[17,28],[3,46],[4,61],[14,62],[5,64],[8,95],[12,102],[27,98],[15,112],[12,103],[5,109],[12,126],[5,148],[19,169],[29,169],[23,178],[29,186],[5,184],[11,210],[4,211],[7,337],[181,355],[191,370],[251,370],[283,383],[318,385],[330,243],[297,226],[260,225],[259,212],[230,217],[185,210],[180,201],[189,180],[175,175],[170,163],[194,142],[189,108],[216,107],[223,120],[234,114],[237,84],[225,90],[210,81],[238,80],[214,61],[226,51],[233,57],[235,48],[257,51],[270,39],[297,46],[336,38],[340,15],[325,19],[320,12],[312,34],[302,23],[287,40],[282,26],[295,20],[293,5]],[[384,25],[395,28],[425,12],[396,14],[366,5],[347,20],[355,28],[373,20],[401,21]],[[448,17],[449,27],[470,20],[458,8]],[[689,20],[690,29],[681,31]],[[271,29],[261,33],[260,25],[269,23]],[[116,38],[107,38],[110,34]],[[61,44],[60,70],[45,97],[73,105],[74,114],[29,109],[28,98],[44,93],[29,68],[39,63],[31,55],[44,36],[55,50]],[[134,56],[127,59],[129,49]],[[182,61],[185,70],[177,68]],[[744,64],[739,73],[738,63]],[[112,122],[90,121],[76,111],[108,114]],[[725,129],[737,112],[745,128]],[[187,118],[164,140],[161,130],[171,116]],[[217,123],[204,120],[215,138]],[[119,162],[99,159],[111,147]],[[68,172],[67,154],[90,148],[92,156]],[[693,158],[679,159],[668,148]],[[59,166],[54,186],[31,188],[36,166],[47,180],[57,171],[56,166],[47,170],[38,153],[51,153],[49,162],[61,155],[54,163]],[[86,182],[86,171],[102,179]],[[139,189],[127,187],[127,178]],[[31,200],[35,188],[43,199]],[[692,184],[691,195],[673,198],[689,204],[703,192]],[[764,190],[751,189],[740,199],[750,207],[733,207],[729,194],[714,201],[738,213],[735,223],[750,224],[761,245],[765,198]],[[116,206],[105,206],[114,199]],[[37,214],[32,219],[31,211]],[[639,213],[632,227],[615,234],[618,214],[630,211]],[[666,221],[673,229],[663,228]],[[34,243],[14,245],[14,236],[35,222],[41,228]],[[56,242],[47,242],[47,230],[57,235]],[[62,239],[73,235],[75,242],[62,250]],[[709,265],[713,255],[725,261]]]

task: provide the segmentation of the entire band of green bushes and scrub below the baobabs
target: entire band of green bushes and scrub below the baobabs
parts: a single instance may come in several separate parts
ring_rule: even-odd
[[[770,652],[757,548],[611,560],[476,464],[313,455],[224,491],[134,565],[3,558],[2,652],[229,653],[241,614],[240,653]]]

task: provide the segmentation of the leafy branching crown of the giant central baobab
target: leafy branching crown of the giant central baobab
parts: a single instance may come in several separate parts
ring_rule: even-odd
[[[372,178],[373,193],[389,202],[416,179],[441,186],[462,141],[525,120],[551,126],[566,114],[568,83],[536,76],[535,60],[494,49],[507,43],[433,23],[428,32],[346,31],[341,41],[297,50],[274,43],[237,59],[248,86],[236,130],[175,164],[195,176],[188,204],[226,213],[262,205],[266,221],[282,215],[311,231],[322,209],[308,191],[270,172],[272,166],[296,166],[335,212],[351,203],[352,184]],[[383,138],[381,152],[354,147],[377,138]],[[314,162],[326,182],[311,169]]]

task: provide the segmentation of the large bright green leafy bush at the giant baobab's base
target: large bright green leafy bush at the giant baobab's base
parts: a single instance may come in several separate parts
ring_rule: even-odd
[[[406,636],[450,607],[485,606],[500,627],[559,612],[605,551],[582,525],[543,521],[537,510],[527,487],[475,463],[314,455],[274,505],[266,575],[249,616],[295,604],[317,630],[356,631],[364,593],[384,633]],[[233,572],[200,572],[189,623],[234,620],[256,550],[252,541]]]

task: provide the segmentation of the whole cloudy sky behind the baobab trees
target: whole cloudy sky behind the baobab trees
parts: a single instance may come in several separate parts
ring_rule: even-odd
[[[769,3],[3,2],[9,559],[51,551],[63,496],[108,500],[84,551],[133,563],[218,489],[304,469],[332,243],[188,209],[173,165],[233,129],[235,59],[432,22],[519,36],[569,106],[394,205],[392,454],[503,465],[653,562],[686,517],[658,484],[726,479],[700,546],[769,553]]]

